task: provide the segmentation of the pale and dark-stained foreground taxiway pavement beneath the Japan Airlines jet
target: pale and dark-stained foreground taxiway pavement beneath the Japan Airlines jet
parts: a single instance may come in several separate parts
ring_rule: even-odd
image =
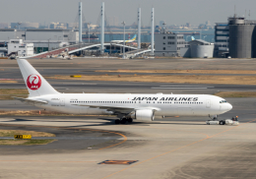
[[[239,126],[204,117],[114,125],[106,117],[2,116],[0,129],[50,132],[44,146],[0,146],[1,178],[254,178],[256,98],[228,98]],[[92,148],[92,149],[91,149]],[[130,165],[105,160],[138,160]]]

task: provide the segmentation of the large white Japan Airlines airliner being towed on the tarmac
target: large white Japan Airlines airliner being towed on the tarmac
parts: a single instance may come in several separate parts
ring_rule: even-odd
[[[15,97],[39,108],[71,114],[115,115],[116,124],[154,121],[155,116],[217,116],[232,109],[208,94],[60,93],[26,59],[17,60],[29,96]]]

